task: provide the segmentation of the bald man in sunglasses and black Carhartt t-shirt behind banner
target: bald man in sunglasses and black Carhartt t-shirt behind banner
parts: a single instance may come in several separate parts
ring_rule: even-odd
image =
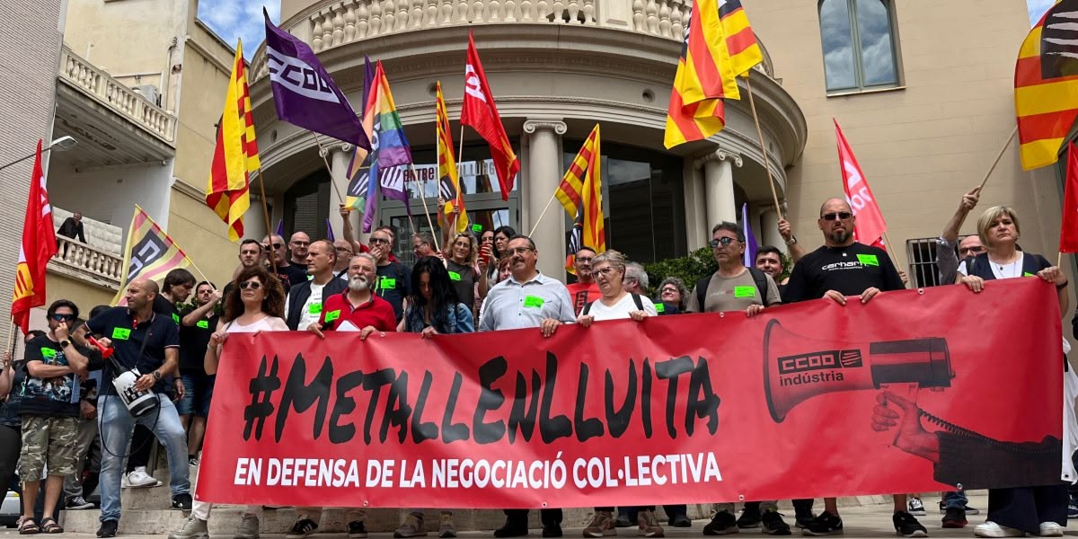
[[[906,288],[887,251],[854,241],[856,223],[849,204],[843,198],[830,198],[820,206],[817,225],[824,233],[824,246],[793,266],[786,287],[788,303],[827,298],[845,306],[856,298],[865,304],[880,292]],[[925,527],[907,512],[906,494],[895,494],[893,498],[895,530],[903,537],[927,537]],[[842,534],[837,499],[824,498],[824,512],[802,531],[806,536]]]

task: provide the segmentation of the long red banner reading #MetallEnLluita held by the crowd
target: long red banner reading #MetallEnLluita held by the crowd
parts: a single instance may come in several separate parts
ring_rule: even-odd
[[[536,508],[1054,483],[1054,305],[1028,278],[549,340],[234,334],[197,498]]]

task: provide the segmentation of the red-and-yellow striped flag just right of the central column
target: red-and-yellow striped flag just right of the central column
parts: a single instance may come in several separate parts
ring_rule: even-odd
[[[606,250],[606,230],[603,218],[603,170],[599,147],[599,124],[595,124],[580,152],[572,158],[569,169],[562,177],[554,196],[565,211],[580,222],[577,249],[568,253],[567,264],[580,247],[591,247],[596,253]],[[573,234],[577,232],[573,226]],[[576,241],[570,235],[570,248]],[[571,265],[571,264],[570,264]]]

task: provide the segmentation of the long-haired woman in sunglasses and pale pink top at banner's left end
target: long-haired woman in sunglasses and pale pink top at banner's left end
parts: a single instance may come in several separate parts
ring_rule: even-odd
[[[245,267],[234,281],[236,287],[224,299],[224,315],[217,323],[217,331],[209,337],[206,347],[206,374],[217,374],[221,348],[233,333],[261,333],[263,331],[288,331],[285,323],[285,288],[268,271],[261,266]],[[183,526],[168,535],[169,539],[193,539],[207,537],[206,521],[212,505],[194,500],[191,515]],[[262,506],[247,506],[236,527],[236,538],[259,537],[259,516]]]

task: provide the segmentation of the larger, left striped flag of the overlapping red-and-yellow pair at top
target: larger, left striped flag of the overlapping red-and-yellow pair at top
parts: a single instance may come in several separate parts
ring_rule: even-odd
[[[741,98],[716,0],[694,2],[685,28],[685,45],[666,112],[663,144],[667,149],[718,133],[725,125],[722,99]]]

